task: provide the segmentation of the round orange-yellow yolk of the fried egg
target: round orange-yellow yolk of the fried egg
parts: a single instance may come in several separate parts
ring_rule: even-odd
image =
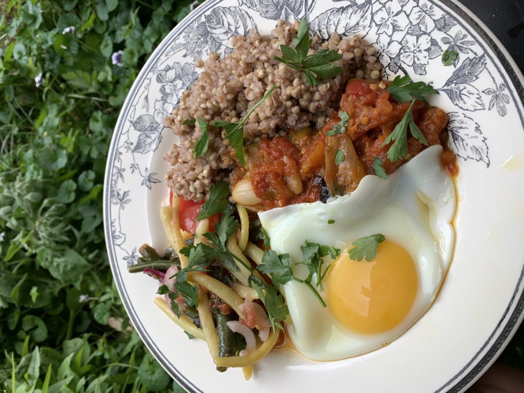
[[[361,333],[385,332],[408,314],[417,293],[413,260],[396,243],[384,241],[372,261],[351,260],[345,250],[334,262],[328,296],[333,314]]]

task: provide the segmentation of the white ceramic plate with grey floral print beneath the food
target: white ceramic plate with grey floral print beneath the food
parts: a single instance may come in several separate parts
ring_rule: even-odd
[[[406,334],[364,356],[313,363],[274,351],[245,381],[218,373],[206,345],[187,336],[152,299],[157,282],[128,274],[143,243],[166,245],[158,210],[166,198],[163,154],[174,141],[162,117],[196,78],[194,60],[230,52],[230,38],[275,20],[307,17],[323,38],[362,34],[380,51],[386,78],[432,82],[449,113],[460,161],[454,259],[439,297]],[[460,53],[443,67],[444,49]],[[122,108],[107,160],[105,233],[111,267],[136,330],[188,391],[463,391],[518,326],[524,296],[522,75],[473,14],[449,0],[209,0],[160,43]]]

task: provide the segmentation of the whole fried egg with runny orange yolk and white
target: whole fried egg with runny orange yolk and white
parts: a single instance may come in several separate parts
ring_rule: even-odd
[[[283,286],[297,351],[332,361],[383,347],[406,332],[431,306],[453,254],[455,187],[432,146],[388,179],[366,176],[351,194],[328,203],[302,203],[259,213],[271,248],[303,259],[304,241],[342,250],[320,291],[327,307],[300,282]],[[334,221],[334,222],[333,222]],[[329,223],[331,222],[331,224]],[[372,261],[348,255],[361,237],[384,234]],[[294,275],[308,275],[304,265]],[[313,278],[316,280],[316,277]]]

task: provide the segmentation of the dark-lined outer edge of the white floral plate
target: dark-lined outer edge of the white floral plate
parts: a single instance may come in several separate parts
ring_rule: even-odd
[[[133,101],[133,97],[135,96],[135,93],[140,90],[141,86],[145,82],[145,76],[148,74],[150,68],[155,64],[157,58],[160,56],[160,54],[165,50],[165,47],[168,46],[174,37],[177,37],[181,34],[183,31],[183,28],[190,24],[196,17],[200,17],[203,13],[205,13],[207,10],[215,6],[216,4],[221,3],[223,0],[208,0],[208,2],[202,4],[200,7],[198,7],[195,12],[188,15],[180,24],[178,24],[171,32],[166,36],[166,38],[160,43],[160,45],[156,48],[154,53],[151,55],[151,57],[147,60],[146,64],[144,65],[144,68],[140,71],[137,80],[133,84],[132,88],[130,89],[128,96],[126,98],[126,101],[123,105],[123,111],[121,111],[121,114],[119,115],[117,124],[115,126],[115,131],[111,146],[110,146],[110,152],[108,155],[107,162],[113,162],[114,161],[114,154],[116,147],[118,146],[118,140],[121,136],[121,133],[119,132],[125,123],[125,119],[127,118],[128,112],[130,110],[130,104]],[[524,86],[522,82],[517,77],[517,73],[515,72],[512,65],[508,62],[506,59],[506,56],[504,53],[500,51],[496,43],[493,41],[492,38],[490,38],[488,32],[480,26],[476,20],[468,13],[465,12],[465,10],[460,7],[459,5],[455,4],[452,0],[429,0],[431,3],[436,4],[439,6],[439,2],[443,4],[444,6],[450,8],[453,13],[457,15],[456,21],[459,23],[465,30],[467,30],[472,37],[479,38],[477,40],[477,43],[479,46],[483,47],[485,49],[485,53],[489,57],[489,59],[492,61],[494,66],[499,71],[500,76],[505,81],[506,85],[509,86],[506,79],[506,75],[504,72],[501,71],[499,65],[497,64],[497,61],[500,61],[500,63],[503,65],[503,70],[507,72],[508,77],[510,81],[512,82],[511,85],[514,86],[515,90],[517,91],[517,94],[519,96],[520,102],[524,103]],[[465,24],[467,23],[467,24]],[[471,28],[475,30],[475,35],[471,34]],[[494,59],[492,56],[492,53],[490,51],[493,51],[497,54],[498,59]],[[508,91],[511,94],[511,97],[514,102],[517,102],[517,100],[514,96],[514,92],[512,89],[508,89]],[[517,105],[517,112],[519,114],[520,120],[522,125],[524,126],[524,116],[522,114],[521,107]],[[152,156],[152,154],[151,154]],[[110,190],[111,190],[111,175],[112,175],[112,168],[113,166],[107,166],[106,169],[106,176],[105,176],[105,198],[104,198],[104,214],[108,219],[106,218],[104,226],[105,226],[105,232],[106,232],[106,239],[112,240],[112,232],[111,232],[111,203],[110,203]],[[187,389],[190,392],[202,392],[198,387],[196,387],[193,383],[191,383],[190,380],[185,378],[183,374],[181,374],[178,369],[171,364],[167,357],[163,354],[163,352],[160,350],[160,348],[154,343],[154,341],[151,339],[151,337],[148,335],[147,331],[144,329],[143,324],[140,322],[140,319],[138,318],[138,315],[136,314],[136,311],[133,307],[133,304],[129,301],[128,295],[127,295],[127,289],[124,285],[123,277],[120,274],[120,271],[117,267],[117,257],[116,257],[116,250],[113,246],[113,242],[106,242],[107,246],[107,252],[110,256],[110,262],[111,262],[111,268],[113,270],[113,276],[115,277],[115,280],[117,282],[117,288],[120,293],[120,296],[124,302],[125,308],[128,311],[128,314],[130,318],[133,321],[133,324],[135,325],[135,328],[140,335],[140,337],[143,339],[143,341],[148,345],[150,348],[152,354],[155,356],[155,358],[159,361],[159,363],[168,370],[169,374],[172,375],[174,379],[176,379],[185,389]],[[490,342],[493,340],[497,332],[500,330],[501,324],[503,324],[504,320],[507,317],[507,314],[510,312],[512,305],[515,302],[515,298],[517,297],[517,294],[520,290],[522,290],[522,279],[524,278],[524,265],[521,270],[521,274],[519,277],[519,280],[517,282],[516,289],[511,297],[511,300],[508,304],[508,307],[506,308],[503,316],[500,318],[496,328],[492,332],[492,334],[488,337],[484,345],[481,347],[481,349],[475,354],[475,356],[471,359],[470,362],[466,366],[463,367],[462,370],[460,370],[459,373],[457,373],[455,376],[453,376],[449,381],[447,381],[446,384],[444,384],[441,388],[435,391],[435,393],[441,392],[446,387],[449,387],[456,379],[460,378],[464,372],[468,368],[472,366],[472,364],[475,362],[475,360],[478,358],[479,355],[481,355],[485,350],[486,347],[490,344]],[[519,318],[521,317],[522,311],[524,310],[524,291],[521,293],[521,296],[516,304],[516,307],[514,311],[511,313],[511,316],[506,323],[506,325],[503,328],[503,331],[500,332],[498,337],[496,338],[495,342],[492,343],[492,346],[488,350],[488,352],[477,362],[477,364],[468,372],[465,376],[463,376],[459,381],[455,383],[451,387],[451,390],[449,391],[461,391],[465,386],[471,383],[472,380],[475,379],[475,377],[481,373],[481,371],[486,367],[487,364],[489,364],[490,361],[492,361],[493,357],[500,351],[500,348],[506,343],[509,335],[512,333],[512,331],[515,329],[515,325],[518,322]]]

